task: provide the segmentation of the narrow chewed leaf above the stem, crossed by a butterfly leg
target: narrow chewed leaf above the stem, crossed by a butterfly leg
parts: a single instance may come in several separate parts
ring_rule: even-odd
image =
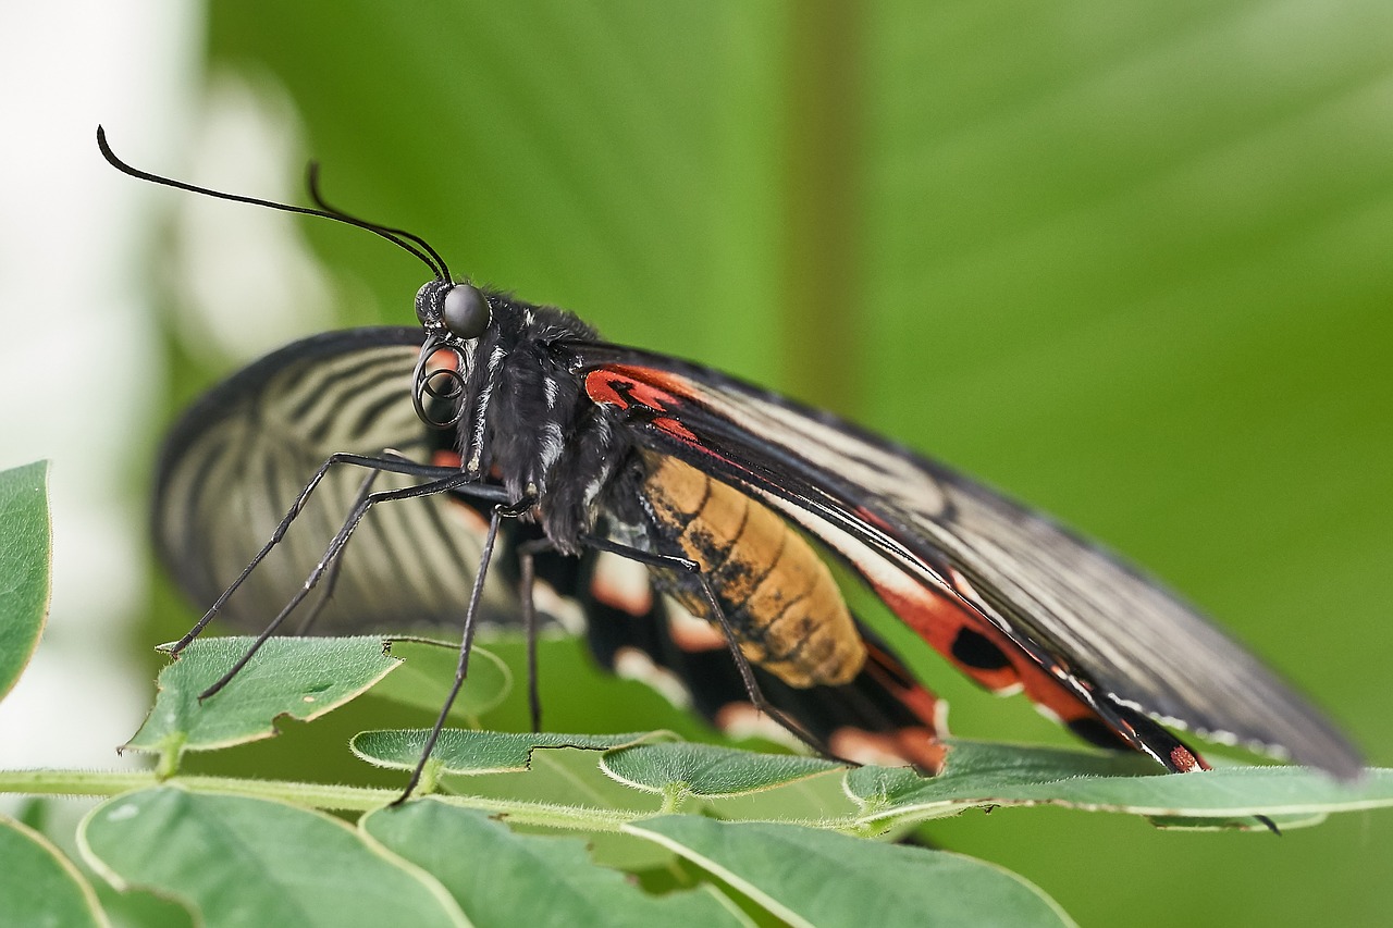
[[[425,748],[426,729],[398,729],[386,732],[362,732],[354,736],[348,747],[354,754],[375,764],[410,771],[421,759]],[[465,732],[446,729],[430,752],[432,764],[443,773],[501,773],[525,771],[536,748],[582,748],[607,751],[616,747],[638,744],[663,732],[635,732],[628,734],[513,734],[507,732]]]

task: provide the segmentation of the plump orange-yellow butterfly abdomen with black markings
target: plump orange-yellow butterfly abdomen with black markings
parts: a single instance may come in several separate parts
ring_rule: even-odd
[[[865,645],[812,546],[740,490],[676,458],[644,457],[659,546],[701,566],[745,656],[794,687],[855,679]],[[710,613],[695,584],[673,592],[694,614]]]

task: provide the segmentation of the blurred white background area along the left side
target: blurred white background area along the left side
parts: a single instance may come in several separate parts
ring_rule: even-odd
[[[102,123],[139,167],[294,195],[288,105],[205,84],[198,14],[176,0],[0,4],[0,468],[50,460],[53,504],[52,614],[0,702],[7,768],[141,762],[114,748],[152,691],[125,628],[145,601],[148,449],[163,426],[157,284],[224,362],[323,326],[327,288],[286,217],[209,209],[98,152]]]

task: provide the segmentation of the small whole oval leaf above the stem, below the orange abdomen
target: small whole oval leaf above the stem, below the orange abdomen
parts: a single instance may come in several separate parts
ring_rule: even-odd
[[[815,757],[688,743],[641,744],[613,751],[600,765],[621,783],[667,796],[742,796],[841,766]]]

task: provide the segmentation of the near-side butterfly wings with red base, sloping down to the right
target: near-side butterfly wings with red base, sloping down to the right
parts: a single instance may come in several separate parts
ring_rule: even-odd
[[[1357,776],[1357,750],[1256,658],[1046,517],[713,371],[614,346],[567,350],[592,400],[625,410],[642,443],[819,536],[985,686],[1024,687],[1081,733],[1102,723],[1172,769],[1194,758],[1151,719]]]

